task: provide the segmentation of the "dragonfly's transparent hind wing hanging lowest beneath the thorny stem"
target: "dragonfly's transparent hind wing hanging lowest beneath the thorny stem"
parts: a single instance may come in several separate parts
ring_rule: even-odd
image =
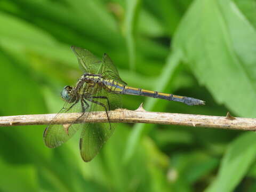
[[[121,98],[117,94],[111,94],[104,89],[98,90],[93,97],[105,96],[109,100],[110,109],[114,110],[121,107]],[[91,99],[89,99],[91,100]],[[103,98],[93,98],[93,101],[86,99],[89,102],[90,111],[105,111],[105,107],[95,103],[100,102],[108,108],[108,100]],[[109,114],[110,115],[110,114]],[[91,161],[98,153],[104,143],[110,138],[115,130],[115,124],[112,123],[89,123],[86,124],[81,133],[80,152],[85,162]]]

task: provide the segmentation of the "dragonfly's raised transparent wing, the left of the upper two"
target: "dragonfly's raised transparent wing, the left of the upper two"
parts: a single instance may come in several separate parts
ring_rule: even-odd
[[[101,66],[101,60],[99,60],[95,55],[86,49],[80,47],[71,46],[71,49],[75,53],[80,68],[84,73],[98,74],[99,68]]]

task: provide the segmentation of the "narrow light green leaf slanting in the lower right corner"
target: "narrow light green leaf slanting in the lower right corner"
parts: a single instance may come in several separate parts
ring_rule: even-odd
[[[256,158],[256,134],[244,133],[232,143],[224,155],[215,181],[205,190],[234,191]]]

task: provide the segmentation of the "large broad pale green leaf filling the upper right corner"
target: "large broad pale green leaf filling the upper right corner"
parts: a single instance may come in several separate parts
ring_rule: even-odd
[[[256,30],[232,1],[195,1],[173,48],[215,100],[238,115],[255,115]]]

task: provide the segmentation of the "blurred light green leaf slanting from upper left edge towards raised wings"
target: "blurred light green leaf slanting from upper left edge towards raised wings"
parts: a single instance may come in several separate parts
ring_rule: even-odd
[[[2,12],[0,12],[0,22],[5,26],[0,28],[2,36],[0,44],[6,50],[21,54],[23,57],[30,51],[70,66],[77,66],[69,45],[57,42],[44,30]],[[13,29],[19,29],[19,33]]]

